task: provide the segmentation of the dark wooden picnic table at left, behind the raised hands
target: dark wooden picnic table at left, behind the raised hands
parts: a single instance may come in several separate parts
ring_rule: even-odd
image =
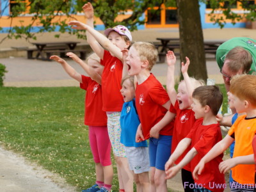
[[[79,52],[80,58],[85,59],[86,52],[83,50],[75,50],[76,45],[79,42],[67,41],[67,42],[32,42],[31,44],[36,46],[36,49],[27,49],[28,59],[48,60],[52,54],[60,54],[61,57],[65,57],[67,52]],[[36,56],[33,57],[33,52],[36,52]]]

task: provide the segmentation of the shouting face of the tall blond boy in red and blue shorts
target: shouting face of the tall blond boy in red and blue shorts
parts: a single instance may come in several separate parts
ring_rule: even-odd
[[[138,51],[133,46],[129,49],[129,53],[125,61],[128,65],[129,76],[136,76],[140,73],[142,62]]]

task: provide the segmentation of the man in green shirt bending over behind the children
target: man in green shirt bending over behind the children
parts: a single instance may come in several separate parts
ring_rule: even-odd
[[[227,40],[218,47],[216,61],[228,92],[231,77],[256,72],[256,40],[247,37]]]

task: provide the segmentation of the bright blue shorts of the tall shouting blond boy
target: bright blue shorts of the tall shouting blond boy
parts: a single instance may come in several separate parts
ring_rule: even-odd
[[[164,171],[164,165],[171,156],[172,136],[159,135],[159,138],[149,139],[150,166]]]

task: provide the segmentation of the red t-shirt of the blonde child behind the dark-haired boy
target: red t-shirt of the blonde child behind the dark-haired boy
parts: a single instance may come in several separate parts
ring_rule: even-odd
[[[176,114],[174,128],[173,128],[173,136],[172,136],[172,153],[174,152],[175,148],[179,144],[181,140],[186,138],[189,134],[190,130],[192,129],[196,118],[195,112],[192,109],[184,109],[180,110],[179,102],[176,100],[175,106],[171,105],[170,110],[171,113]],[[175,164],[179,164],[180,161],[186,156],[186,154],[191,149],[189,147],[183,152],[183,154],[175,161]],[[191,172],[190,163],[186,164],[183,167],[185,170]]]

